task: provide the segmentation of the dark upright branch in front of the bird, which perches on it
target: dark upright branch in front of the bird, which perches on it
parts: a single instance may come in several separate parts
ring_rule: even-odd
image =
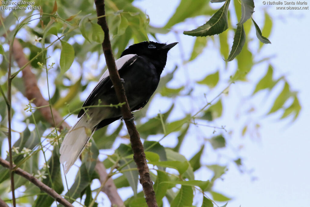
[[[137,168],[140,174],[140,183],[143,187],[145,200],[148,206],[157,207],[155,191],[153,189],[153,182],[150,177],[150,173],[148,170],[148,165],[146,163],[145,154],[143,144],[140,140],[139,133],[135,127],[134,117],[131,114],[131,110],[128,105],[128,101],[125,95],[125,89],[121,82],[120,76],[118,74],[115,60],[113,57],[110,37],[109,37],[109,28],[107,24],[107,20],[104,11],[104,0],[95,0],[97,16],[102,16],[98,18],[98,25],[104,31],[104,41],[102,43],[102,49],[105,57],[106,64],[108,66],[110,79],[112,80],[113,86],[115,88],[115,92],[117,95],[117,99],[120,103],[125,102],[121,107],[122,116],[125,121],[131,142],[131,148],[134,153],[134,160],[137,164]]]

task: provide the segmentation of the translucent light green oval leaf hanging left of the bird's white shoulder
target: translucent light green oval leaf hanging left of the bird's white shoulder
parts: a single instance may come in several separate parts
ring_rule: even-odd
[[[73,63],[74,49],[69,43],[65,41],[60,42],[61,42],[61,53],[60,53],[59,65],[62,70],[61,73],[64,74]]]

